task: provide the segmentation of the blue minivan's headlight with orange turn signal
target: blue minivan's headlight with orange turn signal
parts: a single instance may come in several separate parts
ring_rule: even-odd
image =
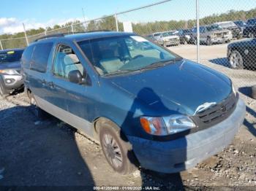
[[[174,114],[169,117],[140,117],[143,129],[155,136],[166,136],[195,128],[195,123],[187,116]]]

